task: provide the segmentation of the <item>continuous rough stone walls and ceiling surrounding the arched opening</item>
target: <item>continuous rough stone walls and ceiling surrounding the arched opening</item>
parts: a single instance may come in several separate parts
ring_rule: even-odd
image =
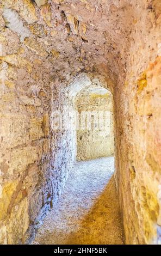
[[[69,117],[98,81],[114,95],[126,242],[160,243],[160,15],[160,0],[1,1],[0,243],[30,240],[57,201],[76,133],[53,130],[53,111]]]

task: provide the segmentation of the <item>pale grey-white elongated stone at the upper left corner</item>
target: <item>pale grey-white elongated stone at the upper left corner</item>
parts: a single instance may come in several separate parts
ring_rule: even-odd
[[[30,35],[30,32],[26,26],[23,25],[23,22],[20,20],[20,17],[16,11],[9,8],[3,9],[3,17],[5,20],[5,26],[7,26],[12,31],[20,35],[20,41],[23,42],[24,38]]]

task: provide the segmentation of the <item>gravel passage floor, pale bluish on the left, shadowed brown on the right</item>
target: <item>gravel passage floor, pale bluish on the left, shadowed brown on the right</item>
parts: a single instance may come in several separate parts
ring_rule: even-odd
[[[34,244],[122,244],[114,157],[77,162]]]

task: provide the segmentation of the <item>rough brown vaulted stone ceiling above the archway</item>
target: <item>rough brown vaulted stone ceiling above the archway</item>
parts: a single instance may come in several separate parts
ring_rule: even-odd
[[[14,41],[14,51],[20,42],[25,44],[48,58],[61,79],[84,71],[101,74],[113,84],[125,65],[127,38],[134,23],[130,2],[5,0],[1,23],[5,21],[6,27],[20,35],[20,41]],[[5,53],[13,53],[13,45]]]

